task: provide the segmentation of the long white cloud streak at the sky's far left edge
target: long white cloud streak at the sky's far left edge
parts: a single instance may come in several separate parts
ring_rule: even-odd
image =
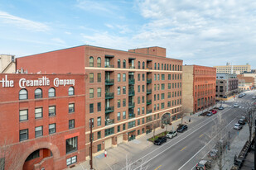
[[[13,16],[7,12],[0,11],[0,22],[20,27],[30,31],[49,31],[50,27],[41,22],[31,21],[22,17]]]

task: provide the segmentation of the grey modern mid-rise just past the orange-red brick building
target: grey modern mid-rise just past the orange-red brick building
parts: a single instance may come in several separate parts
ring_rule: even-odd
[[[236,74],[217,73],[216,75],[216,95],[217,98],[227,98],[239,92],[239,79]]]

